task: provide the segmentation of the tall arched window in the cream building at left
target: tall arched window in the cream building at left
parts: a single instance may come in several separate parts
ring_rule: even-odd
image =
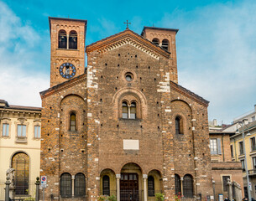
[[[29,194],[29,156],[24,152],[16,153],[12,159],[12,168],[15,169],[15,193]]]

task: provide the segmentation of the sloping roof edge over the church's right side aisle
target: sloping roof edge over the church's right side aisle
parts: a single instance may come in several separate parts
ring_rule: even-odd
[[[173,90],[178,91],[180,94],[185,95],[186,97],[192,99],[193,101],[196,101],[197,103],[199,103],[203,106],[208,106],[209,105],[209,101],[206,101],[200,95],[196,95],[191,90],[187,90],[187,89],[185,89],[185,87],[183,87],[181,85],[178,85],[173,81],[170,81],[170,88],[173,89]]]

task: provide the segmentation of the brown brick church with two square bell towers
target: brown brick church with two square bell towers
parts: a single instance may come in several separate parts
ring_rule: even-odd
[[[86,46],[86,20],[49,21],[45,199],[211,200],[209,102],[178,85],[178,29],[127,28]]]

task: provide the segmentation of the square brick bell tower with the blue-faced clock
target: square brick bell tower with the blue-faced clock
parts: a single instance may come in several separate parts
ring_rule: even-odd
[[[84,74],[87,20],[50,18],[50,87]]]

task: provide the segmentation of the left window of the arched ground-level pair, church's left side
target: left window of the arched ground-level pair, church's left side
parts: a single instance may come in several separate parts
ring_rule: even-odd
[[[63,173],[60,176],[60,196],[62,198],[72,197],[72,179],[70,173]]]

